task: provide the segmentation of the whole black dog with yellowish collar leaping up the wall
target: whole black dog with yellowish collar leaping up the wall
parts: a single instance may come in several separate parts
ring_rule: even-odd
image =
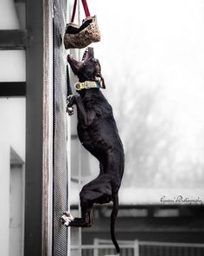
[[[112,115],[112,107],[99,88],[105,89],[99,60],[88,48],[81,62],[67,56],[73,73],[79,81],[75,88],[79,95],[68,99],[67,109],[76,104],[78,114],[78,135],[81,144],[99,160],[99,176],[86,184],[80,192],[81,218],[65,213],[61,218],[67,226],[91,226],[94,203],[113,202],[111,215],[112,242],[120,252],[115,239],[115,220],[118,214],[118,189],[124,173],[124,149],[118,135],[118,128]]]

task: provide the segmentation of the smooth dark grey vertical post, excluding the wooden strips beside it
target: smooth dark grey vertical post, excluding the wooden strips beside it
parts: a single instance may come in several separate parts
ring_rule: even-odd
[[[42,250],[42,141],[43,141],[43,7],[41,0],[26,1],[26,172],[24,256]]]

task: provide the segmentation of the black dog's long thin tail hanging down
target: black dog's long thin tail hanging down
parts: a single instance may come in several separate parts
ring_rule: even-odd
[[[120,247],[118,246],[118,242],[115,237],[115,223],[116,223],[116,217],[118,215],[118,194],[115,194],[112,196],[112,215],[111,215],[111,236],[112,236],[112,243],[116,247],[116,251],[119,255],[120,253]]]

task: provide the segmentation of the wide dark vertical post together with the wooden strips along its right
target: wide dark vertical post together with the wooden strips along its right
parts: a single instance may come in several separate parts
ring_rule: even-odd
[[[24,255],[52,253],[52,0],[27,0]]]

